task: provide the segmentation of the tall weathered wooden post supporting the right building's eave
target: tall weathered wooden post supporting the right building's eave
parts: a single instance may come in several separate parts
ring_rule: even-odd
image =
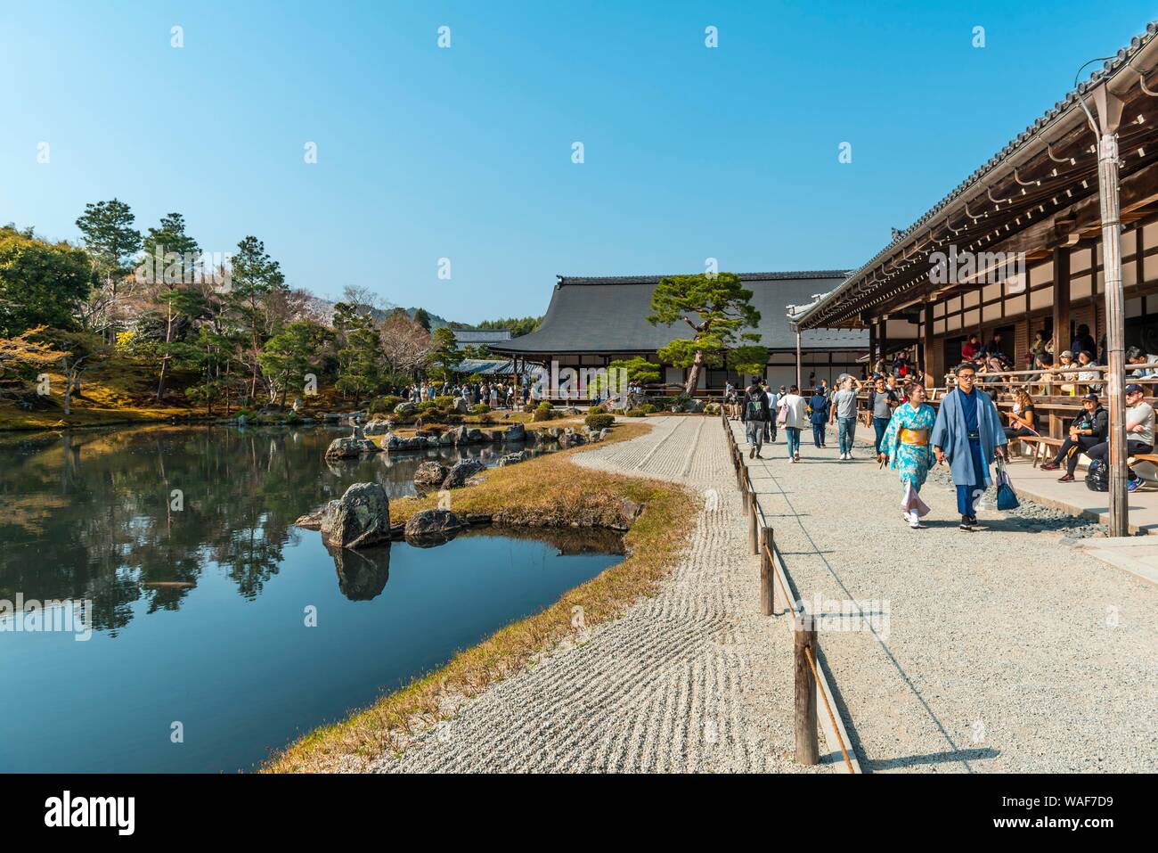
[[[1105,89],[1105,86],[1102,86]],[[1122,220],[1117,197],[1117,122],[1121,104],[1107,109],[1113,99],[1108,93],[1099,99],[1101,139],[1098,144],[1098,195],[1101,201],[1101,258],[1106,276],[1106,349],[1109,370],[1106,395],[1109,398],[1109,535],[1129,532],[1129,493],[1126,489],[1126,399],[1124,349],[1126,311],[1122,293]]]

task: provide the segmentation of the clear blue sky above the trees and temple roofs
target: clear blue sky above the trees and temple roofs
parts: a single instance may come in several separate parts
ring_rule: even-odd
[[[257,235],[293,286],[366,284],[464,322],[543,312],[557,272],[852,268],[1152,17],[1090,0],[5,0],[0,223],[76,239],[85,203],[116,196],[142,231],[184,213],[206,250]]]

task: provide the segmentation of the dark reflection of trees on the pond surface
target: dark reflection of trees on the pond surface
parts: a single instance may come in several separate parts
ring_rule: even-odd
[[[303,512],[353,482],[415,494],[426,460],[493,464],[519,445],[378,453],[324,461],[349,428],[151,426],[0,439],[0,598],[90,599],[93,627],[116,635],[142,610],[175,611],[204,567],[255,599],[302,535]],[[379,595],[382,554],[335,556],[352,599]],[[139,605],[144,603],[145,607]]]

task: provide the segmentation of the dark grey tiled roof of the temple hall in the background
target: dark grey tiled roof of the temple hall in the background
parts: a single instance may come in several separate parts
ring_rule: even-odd
[[[753,291],[760,312],[760,343],[774,350],[796,350],[796,333],[785,306],[811,301],[833,290],[846,277],[844,270],[805,272],[745,272],[741,280]],[[661,276],[559,276],[547,316],[536,331],[491,347],[496,352],[652,352],[675,338],[690,338],[687,323],[652,326],[651,298]],[[862,330],[811,329],[801,348],[865,349]]]

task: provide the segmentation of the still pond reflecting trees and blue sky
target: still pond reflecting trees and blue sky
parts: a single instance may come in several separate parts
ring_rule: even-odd
[[[0,440],[0,599],[91,602],[88,639],[0,618],[0,771],[252,770],[622,559],[611,533],[500,528],[331,554],[298,516],[359,481],[411,494],[420,461],[459,458],[323,462],[347,431]]]

